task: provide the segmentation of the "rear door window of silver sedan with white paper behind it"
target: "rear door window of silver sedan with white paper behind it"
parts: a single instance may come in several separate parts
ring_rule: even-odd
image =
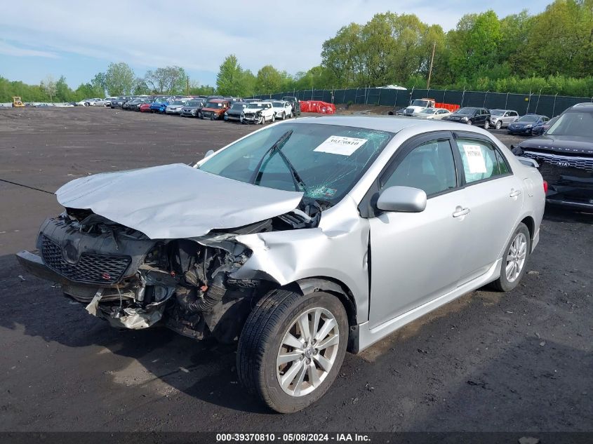
[[[468,184],[509,173],[504,157],[492,144],[484,140],[458,139],[457,146]]]

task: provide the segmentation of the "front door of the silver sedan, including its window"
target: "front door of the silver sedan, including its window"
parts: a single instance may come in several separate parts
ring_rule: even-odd
[[[396,158],[379,180],[380,189],[420,188],[428,199],[421,213],[369,219],[371,328],[455,289],[460,278],[465,215],[451,141],[427,138],[400,148],[403,159]]]

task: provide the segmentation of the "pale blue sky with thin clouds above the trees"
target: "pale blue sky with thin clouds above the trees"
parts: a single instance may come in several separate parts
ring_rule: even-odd
[[[551,1],[551,0],[550,0]],[[445,30],[465,13],[495,5],[499,16],[549,1],[327,0],[327,1],[4,1],[0,15],[0,75],[39,83],[66,77],[73,88],[127,62],[137,76],[167,65],[214,85],[226,55],[236,54],[254,74],[272,64],[291,74],[319,65],[321,43],[349,22],[375,13],[415,13]]]

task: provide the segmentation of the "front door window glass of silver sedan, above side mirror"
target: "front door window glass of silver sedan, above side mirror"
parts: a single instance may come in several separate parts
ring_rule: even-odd
[[[449,141],[431,140],[415,147],[381,181],[382,189],[396,185],[423,189],[428,197],[455,188],[455,161]]]

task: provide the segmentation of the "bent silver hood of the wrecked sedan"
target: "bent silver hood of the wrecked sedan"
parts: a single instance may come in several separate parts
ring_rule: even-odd
[[[92,210],[149,238],[191,238],[294,210],[302,193],[258,187],[183,163],[72,180],[55,193],[67,208]]]

